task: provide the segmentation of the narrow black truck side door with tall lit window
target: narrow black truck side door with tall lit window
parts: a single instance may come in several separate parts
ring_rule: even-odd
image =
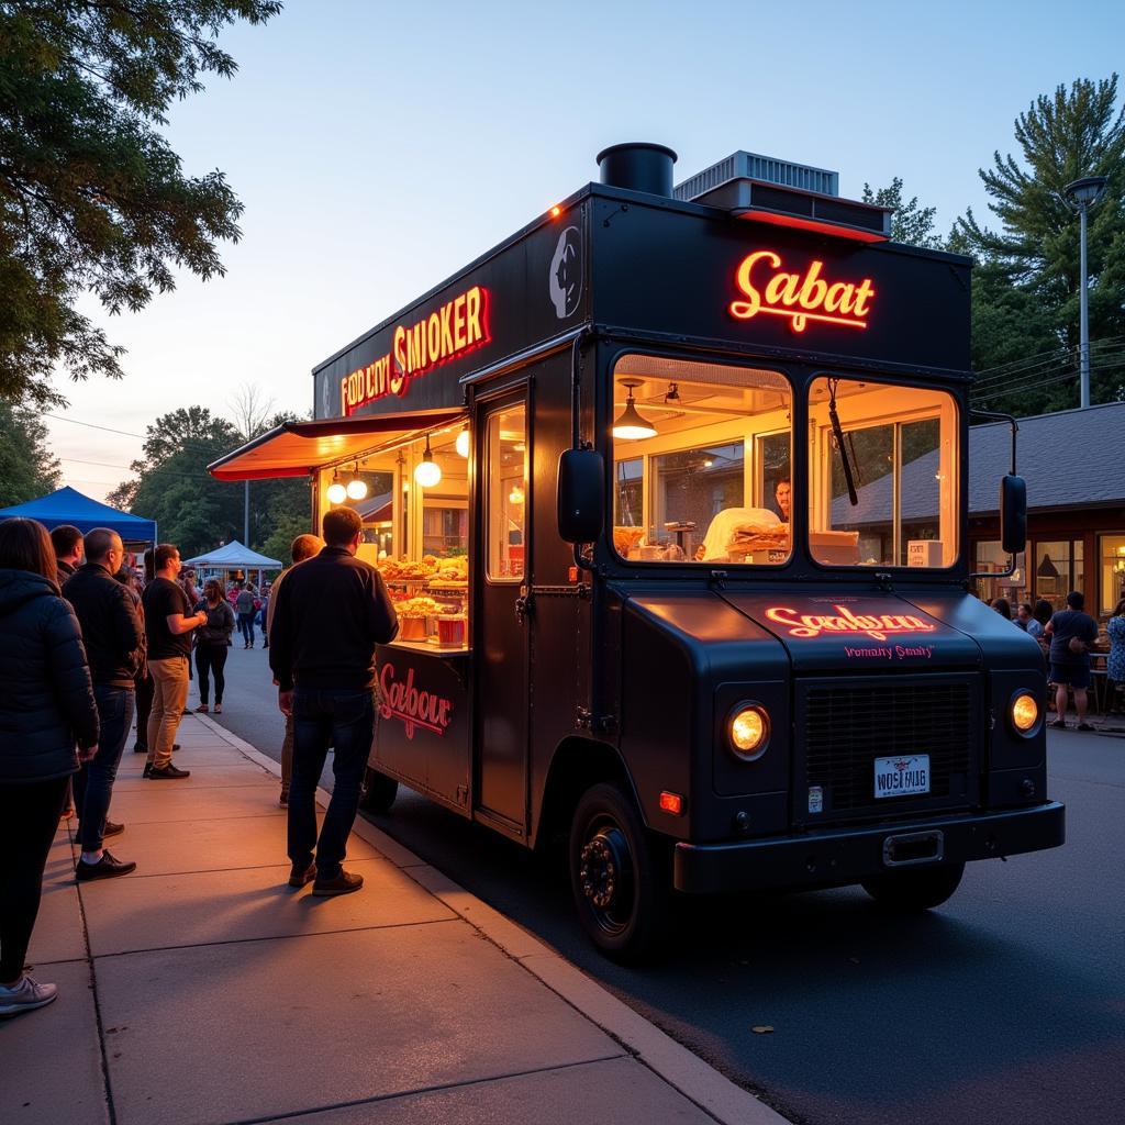
[[[522,835],[526,822],[528,616],[531,510],[526,390],[480,414],[477,537],[477,807]]]

